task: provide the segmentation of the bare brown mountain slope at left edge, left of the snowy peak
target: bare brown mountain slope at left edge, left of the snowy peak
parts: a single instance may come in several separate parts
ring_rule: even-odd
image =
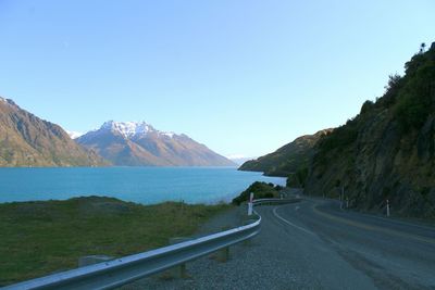
[[[107,163],[76,144],[58,125],[0,98],[0,166],[99,166]]]

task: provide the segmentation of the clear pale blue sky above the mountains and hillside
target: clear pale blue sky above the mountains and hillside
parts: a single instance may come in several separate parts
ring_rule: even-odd
[[[0,96],[87,131],[146,121],[258,156],[338,126],[421,42],[435,1],[0,0]]]

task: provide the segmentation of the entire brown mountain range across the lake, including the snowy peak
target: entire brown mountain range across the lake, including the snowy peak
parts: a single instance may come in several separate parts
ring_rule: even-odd
[[[72,134],[72,133],[70,133]],[[0,166],[235,166],[188,136],[151,125],[107,122],[73,140],[0,97]]]

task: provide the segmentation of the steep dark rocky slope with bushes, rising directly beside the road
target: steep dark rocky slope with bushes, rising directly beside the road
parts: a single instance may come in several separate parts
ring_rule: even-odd
[[[307,179],[309,194],[350,206],[435,216],[435,43],[390,76],[385,94],[322,138]]]

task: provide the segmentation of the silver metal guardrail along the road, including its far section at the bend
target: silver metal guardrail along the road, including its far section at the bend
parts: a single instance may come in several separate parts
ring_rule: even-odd
[[[298,199],[263,199],[260,204],[283,204]],[[249,225],[190,241],[85,266],[2,288],[15,289],[112,289],[163,272],[217,250],[251,239],[260,232],[261,216]]]

